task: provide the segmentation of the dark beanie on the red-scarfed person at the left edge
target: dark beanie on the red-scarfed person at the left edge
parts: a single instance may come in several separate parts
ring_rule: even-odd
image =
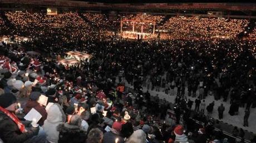
[[[4,93],[0,95],[0,106],[2,108],[7,108],[9,105],[16,103],[17,99],[12,93]]]

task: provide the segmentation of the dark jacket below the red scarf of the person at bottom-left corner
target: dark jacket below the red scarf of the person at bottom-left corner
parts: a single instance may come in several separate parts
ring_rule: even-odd
[[[33,136],[32,131],[22,133],[16,123],[6,114],[0,111],[0,138],[4,143],[8,142],[24,142]]]

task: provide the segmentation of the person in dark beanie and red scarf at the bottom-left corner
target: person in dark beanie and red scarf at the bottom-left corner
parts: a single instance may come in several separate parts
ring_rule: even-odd
[[[17,99],[11,93],[0,96],[0,138],[8,142],[45,142],[45,135],[38,134],[39,127],[26,128],[17,118]]]

